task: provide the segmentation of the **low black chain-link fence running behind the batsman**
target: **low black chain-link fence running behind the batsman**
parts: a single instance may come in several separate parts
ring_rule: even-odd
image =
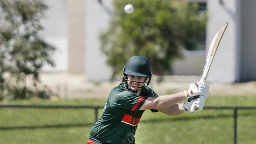
[[[1,144],[85,144],[101,106],[0,105]],[[255,144],[256,107],[205,107],[167,116],[145,111],[136,144]]]

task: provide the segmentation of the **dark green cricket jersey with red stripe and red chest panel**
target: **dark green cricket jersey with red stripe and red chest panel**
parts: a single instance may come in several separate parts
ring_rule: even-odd
[[[94,124],[90,135],[109,144],[134,144],[135,131],[145,111],[139,109],[148,97],[156,96],[149,87],[143,87],[137,96],[121,83],[110,92],[100,119]]]

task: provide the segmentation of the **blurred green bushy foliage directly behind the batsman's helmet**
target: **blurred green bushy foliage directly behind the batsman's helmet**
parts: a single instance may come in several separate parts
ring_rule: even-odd
[[[134,6],[133,13],[124,12],[126,4]],[[133,55],[147,57],[154,74],[169,74],[171,63],[182,56],[182,49],[196,49],[198,39],[205,35],[206,12],[198,12],[196,3],[114,0],[114,8],[115,18],[100,37],[113,77]]]

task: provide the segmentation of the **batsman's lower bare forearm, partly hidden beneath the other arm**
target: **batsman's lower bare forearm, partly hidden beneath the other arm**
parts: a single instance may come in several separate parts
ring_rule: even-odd
[[[174,116],[174,115],[179,115],[184,113],[182,109],[183,103],[176,103],[172,105],[171,107],[163,108],[163,109],[158,109],[161,113],[167,114],[169,116]]]

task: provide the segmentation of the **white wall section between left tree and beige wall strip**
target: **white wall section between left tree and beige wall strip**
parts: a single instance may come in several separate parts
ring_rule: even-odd
[[[49,9],[45,13],[45,18],[41,24],[45,27],[42,35],[50,44],[56,46],[53,59],[56,67],[45,65],[43,71],[67,71],[67,1],[66,0],[46,0]]]

